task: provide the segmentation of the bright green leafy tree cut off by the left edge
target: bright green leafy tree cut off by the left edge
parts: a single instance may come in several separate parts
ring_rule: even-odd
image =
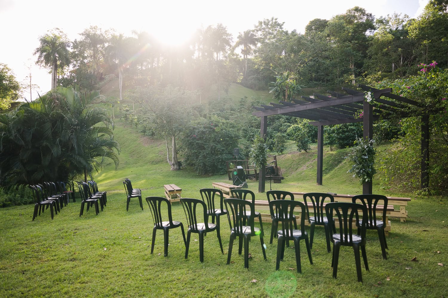
[[[0,110],[9,109],[11,102],[19,98],[20,89],[11,69],[0,63]]]

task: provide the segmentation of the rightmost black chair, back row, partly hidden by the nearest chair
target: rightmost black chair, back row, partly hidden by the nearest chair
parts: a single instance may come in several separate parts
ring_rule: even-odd
[[[352,202],[356,204],[362,204],[367,209],[367,216],[362,218],[362,221],[366,222],[367,230],[376,230],[378,232],[379,244],[381,246],[381,253],[383,259],[387,260],[386,248],[388,243],[386,242],[386,235],[384,228],[387,225],[386,211],[388,206],[388,198],[379,194],[360,194],[352,198]],[[376,219],[376,211],[379,209],[378,203],[383,205],[383,213],[381,220]]]

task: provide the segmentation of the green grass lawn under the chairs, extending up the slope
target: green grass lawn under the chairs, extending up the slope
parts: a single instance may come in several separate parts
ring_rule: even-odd
[[[215,232],[204,244],[204,263],[199,262],[197,235],[192,234],[189,258],[181,230],[169,236],[168,257],[164,257],[162,232],[157,232],[151,252],[153,222],[144,202],[132,199],[126,212],[122,180],[129,177],[142,189],[143,197],[163,196],[163,185],[180,186],[183,197],[200,197],[199,189],[211,182],[229,182],[227,176],[198,176],[185,168],[169,171],[164,143],[140,137],[132,128],[118,123],[116,139],[122,146],[117,169],[108,164],[95,180],[108,191],[108,204],[98,216],[94,210],[79,217],[80,200],[51,220],[46,211],[31,221],[33,206],[0,210],[0,297],[447,297],[448,229],[446,197],[415,197],[411,193],[390,193],[374,184],[374,191],[412,197],[409,218],[401,223],[392,218],[388,260],[383,260],[375,231],[367,233],[370,272],[362,266],[363,283],[356,280],[353,250],[341,248],[338,278],[332,278],[331,254],[327,253],[323,228],[316,227],[310,264],[305,245],[302,273],[295,270],[295,255],[287,248],[276,271],[276,239],[269,244],[271,225],[263,224],[267,260],[263,260],[257,237],[250,242],[252,260],[244,268],[244,257],[234,246],[227,265],[229,228],[221,221],[224,255]],[[315,183],[315,149],[278,157],[285,180],[272,189],[331,191],[356,194],[358,181],[346,173],[349,164],[338,163],[343,154],[326,148],[323,184]],[[249,189],[257,199],[258,182]],[[269,184],[266,184],[269,189]],[[173,218],[186,222],[179,204],[173,204]],[[302,242],[303,243],[303,242]],[[416,257],[415,261],[413,258]],[[444,266],[439,265],[444,264]]]

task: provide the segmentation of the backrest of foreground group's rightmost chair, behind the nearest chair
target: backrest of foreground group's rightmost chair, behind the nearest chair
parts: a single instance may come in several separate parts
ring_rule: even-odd
[[[367,209],[367,217],[365,215],[362,217],[362,221],[366,221],[367,229],[376,229],[376,209],[379,207],[378,203],[383,205],[383,214],[381,220],[386,222],[386,211],[388,206],[388,197],[380,194],[360,194],[352,198],[352,202],[356,204],[362,204]]]

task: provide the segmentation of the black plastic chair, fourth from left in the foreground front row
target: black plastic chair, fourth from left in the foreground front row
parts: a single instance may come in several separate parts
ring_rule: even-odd
[[[306,251],[308,252],[308,258],[310,259],[310,264],[313,264],[313,259],[311,258],[311,248],[308,241],[308,234],[305,231],[305,217],[300,217],[300,229],[293,229],[293,212],[294,208],[300,207],[302,214],[305,214],[306,208],[302,202],[290,201],[290,200],[273,200],[269,202],[269,210],[271,211],[271,216],[275,217],[282,223],[282,229],[277,232],[278,243],[277,243],[277,263],[276,270],[280,268],[280,260],[284,257],[284,247],[285,243],[289,240],[294,241],[294,248],[296,250],[296,264],[297,272],[302,273],[302,266],[300,263],[300,240],[305,240]]]

